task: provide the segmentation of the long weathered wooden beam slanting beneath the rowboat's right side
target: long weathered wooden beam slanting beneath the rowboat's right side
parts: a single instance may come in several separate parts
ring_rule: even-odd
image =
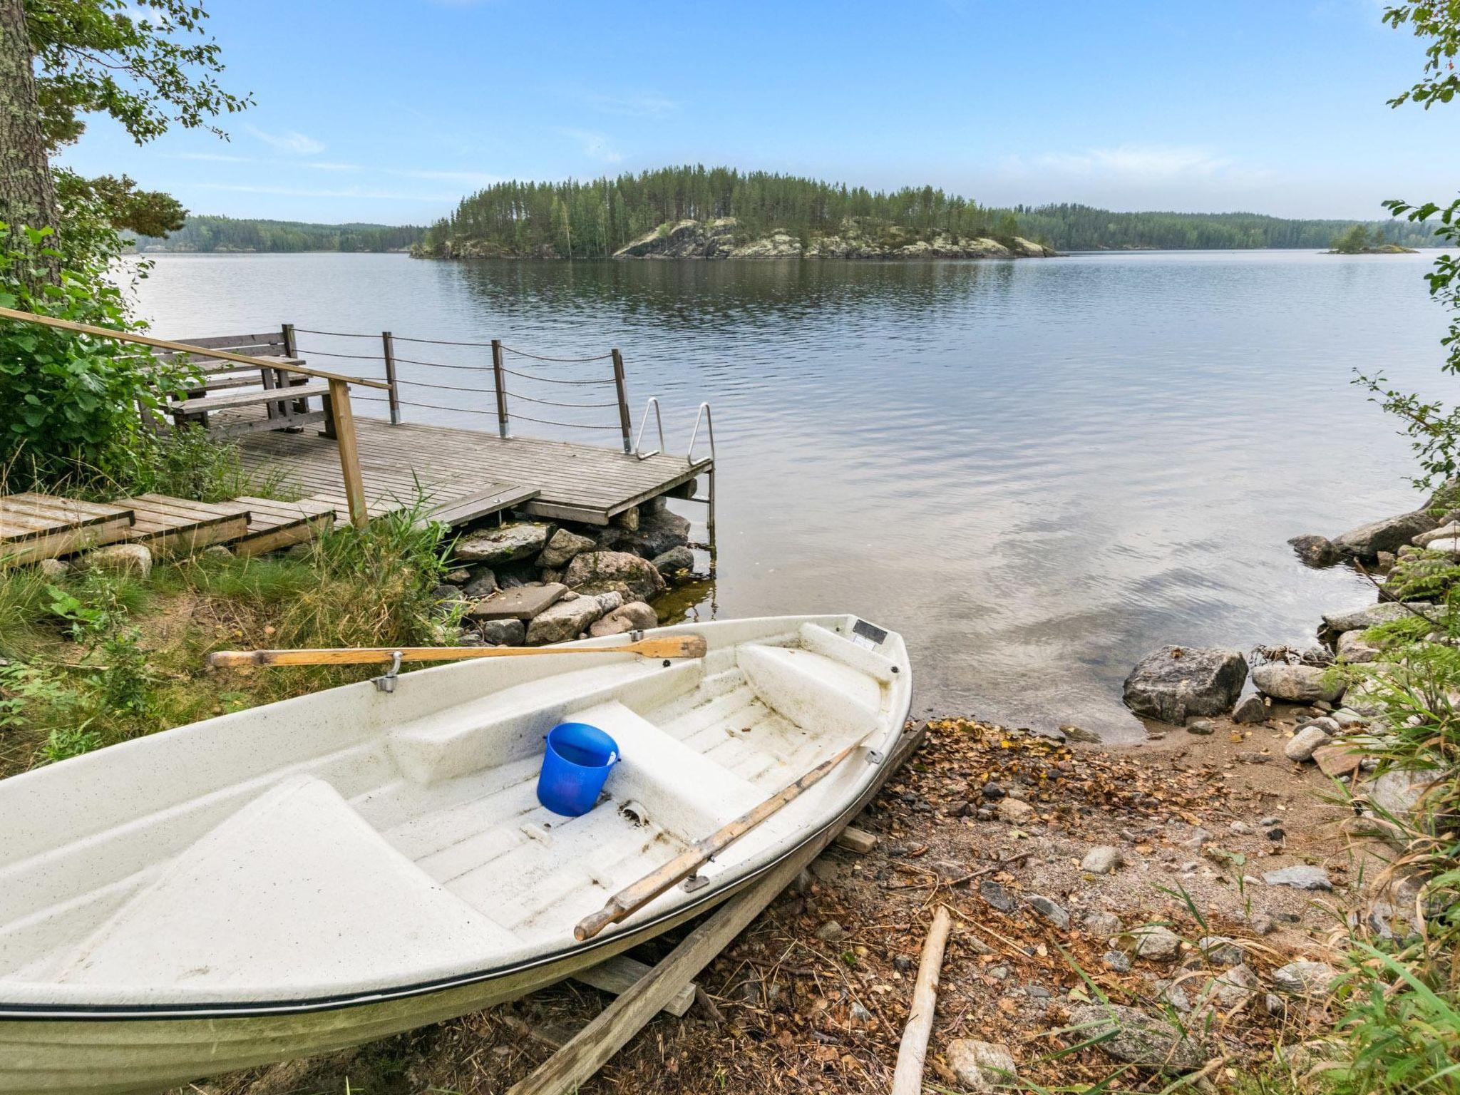
[[[927,723],[904,731],[888,758],[888,775],[923,743]],[[664,961],[638,984],[619,996],[587,1026],[543,1061],[530,1076],[508,1088],[507,1095],[568,1095],[583,1086],[623,1048],[675,993],[689,984],[745,927],[815,860],[832,837],[812,840],[787,856],[765,877],[730,898],[708,920],[691,931]]]

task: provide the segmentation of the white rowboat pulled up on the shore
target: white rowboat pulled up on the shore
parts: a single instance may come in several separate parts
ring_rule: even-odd
[[[158,1091],[511,1000],[823,845],[886,778],[911,702],[899,635],[856,616],[654,634],[708,651],[441,666],[0,781],[0,1092]],[[536,800],[568,718],[622,752],[571,819]],[[695,885],[574,940],[854,743]]]

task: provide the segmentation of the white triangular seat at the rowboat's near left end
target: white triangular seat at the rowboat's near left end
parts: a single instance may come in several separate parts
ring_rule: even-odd
[[[517,936],[396,851],[330,784],[292,777],[177,856],[60,961],[63,984],[326,994],[429,980]]]

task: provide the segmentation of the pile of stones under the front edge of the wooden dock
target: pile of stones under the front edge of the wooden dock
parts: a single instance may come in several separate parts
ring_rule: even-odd
[[[689,521],[666,498],[606,527],[527,517],[467,530],[437,587],[441,641],[529,645],[658,626],[651,602],[695,581]]]

